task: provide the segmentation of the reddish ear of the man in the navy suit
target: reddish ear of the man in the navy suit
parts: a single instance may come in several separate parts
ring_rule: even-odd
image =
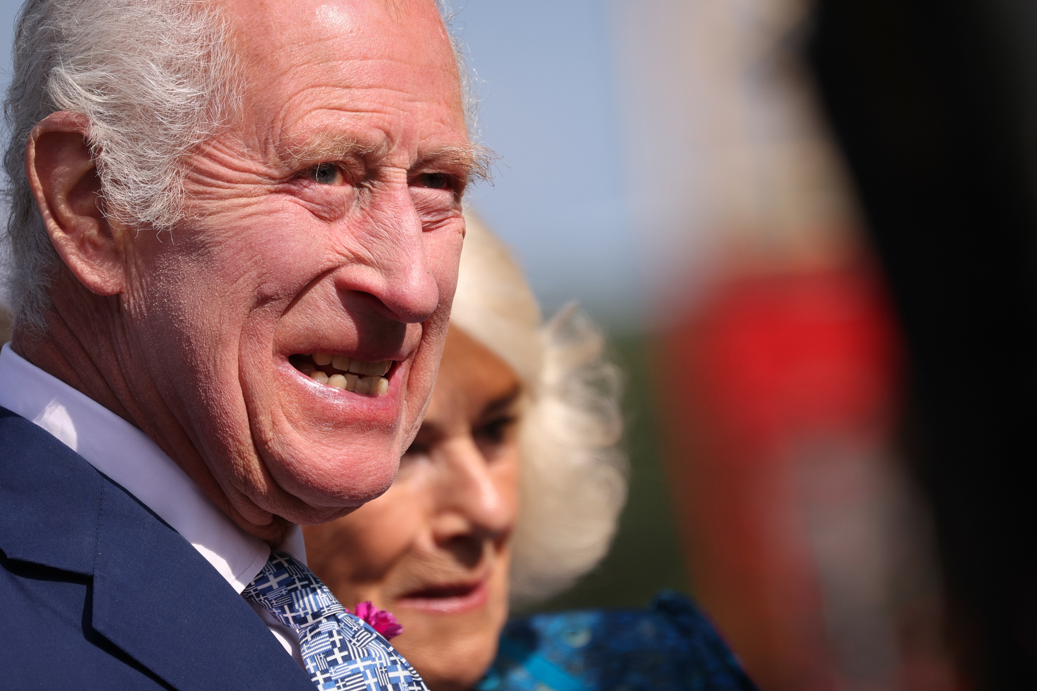
[[[79,113],[51,113],[25,146],[29,186],[47,233],[68,270],[99,295],[122,292],[122,247],[102,211],[101,179],[88,141],[89,121]]]

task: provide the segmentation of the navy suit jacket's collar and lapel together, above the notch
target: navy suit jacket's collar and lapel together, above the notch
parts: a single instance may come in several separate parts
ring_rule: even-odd
[[[179,691],[313,691],[244,598],[125,490],[3,408],[0,451],[0,548],[92,575],[105,638]]]

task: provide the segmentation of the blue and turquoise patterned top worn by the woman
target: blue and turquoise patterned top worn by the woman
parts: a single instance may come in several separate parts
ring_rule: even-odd
[[[510,622],[477,691],[756,691],[682,595],[646,609],[548,612]]]

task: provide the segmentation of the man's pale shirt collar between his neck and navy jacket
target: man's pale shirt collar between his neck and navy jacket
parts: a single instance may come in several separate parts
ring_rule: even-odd
[[[270,547],[208,500],[141,430],[11,350],[0,350],[0,406],[44,428],[179,532],[241,593]],[[305,563],[299,526],[281,545]]]

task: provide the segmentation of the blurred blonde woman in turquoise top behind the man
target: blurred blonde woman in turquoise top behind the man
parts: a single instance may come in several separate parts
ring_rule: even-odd
[[[564,589],[608,550],[626,490],[619,377],[585,317],[542,324],[504,246],[468,227],[421,431],[385,495],[305,529],[310,567],[343,604],[394,613],[394,644],[433,691],[752,688],[680,596],[505,629],[509,603]]]

